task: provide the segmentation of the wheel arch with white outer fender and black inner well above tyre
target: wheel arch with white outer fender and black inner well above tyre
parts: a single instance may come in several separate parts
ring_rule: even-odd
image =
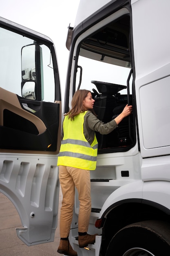
[[[167,204],[170,190],[167,191],[167,186],[170,186],[170,182],[132,182],[109,196],[99,217],[103,225],[102,255],[105,255],[113,236],[127,225],[146,220],[164,220],[170,223],[170,207]]]

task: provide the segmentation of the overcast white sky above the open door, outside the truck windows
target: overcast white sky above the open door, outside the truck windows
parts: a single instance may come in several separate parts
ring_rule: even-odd
[[[49,36],[57,51],[62,97],[68,63],[66,36],[69,23],[74,27],[79,0],[5,0],[0,16]]]

